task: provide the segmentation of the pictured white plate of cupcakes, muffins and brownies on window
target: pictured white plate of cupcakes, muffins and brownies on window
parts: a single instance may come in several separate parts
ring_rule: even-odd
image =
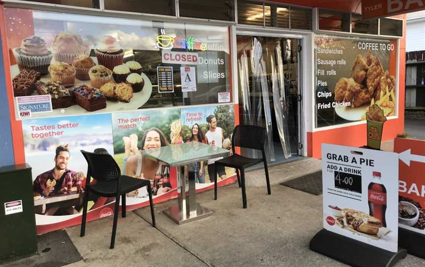
[[[124,49],[115,37],[98,36],[92,57],[93,45],[79,34],[61,32],[51,43],[46,39],[24,37],[10,50],[15,59],[14,96],[52,99],[52,112],[32,112],[31,118],[135,110],[151,98],[150,79],[140,63],[124,63]],[[29,117],[19,115],[18,119]]]

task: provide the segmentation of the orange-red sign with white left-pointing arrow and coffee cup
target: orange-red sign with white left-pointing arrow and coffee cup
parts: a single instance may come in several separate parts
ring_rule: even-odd
[[[425,234],[425,141],[395,138],[400,153],[398,226]]]

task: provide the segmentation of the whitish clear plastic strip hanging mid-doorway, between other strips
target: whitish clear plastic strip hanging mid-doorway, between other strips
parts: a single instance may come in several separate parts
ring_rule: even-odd
[[[275,161],[274,155],[274,146],[273,146],[273,128],[272,128],[272,114],[270,111],[270,100],[269,100],[269,87],[267,83],[267,71],[266,71],[266,63],[263,58],[263,48],[261,43],[254,38],[253,41],[253,53],[252,56],[254,58],[254,80],[255,84],[261,84],[261,95],[263,97],[263,105],[264,105],[264,117],[266,122],[266,131],[267,131],[267,145],[269,147],[269,156],[271,161]],[[253,83],[254,84],[254,83]],[[255,92],[255,91],[254,91]],[[258,116],[257,122],[260,122],[261,115],[261,100],[259,100],[258,104]]]

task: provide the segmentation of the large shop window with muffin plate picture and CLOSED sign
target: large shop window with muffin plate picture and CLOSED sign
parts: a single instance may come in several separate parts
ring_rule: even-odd
[[[32,117],[231,101],[228,27],[16,8],[5,14],[15,97],[50,94],[54,102],[53,113]],[[30,70],[40,74],[26,84]],[[57,81],[63,92],[54,91]],[[69,92],[87,96],[80,84],[106,101],[64,104]]]

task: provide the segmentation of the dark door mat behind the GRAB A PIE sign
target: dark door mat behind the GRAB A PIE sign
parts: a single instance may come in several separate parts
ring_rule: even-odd
[[[319,196],[322,194],[322,171],[313,172],[280,184]]]

